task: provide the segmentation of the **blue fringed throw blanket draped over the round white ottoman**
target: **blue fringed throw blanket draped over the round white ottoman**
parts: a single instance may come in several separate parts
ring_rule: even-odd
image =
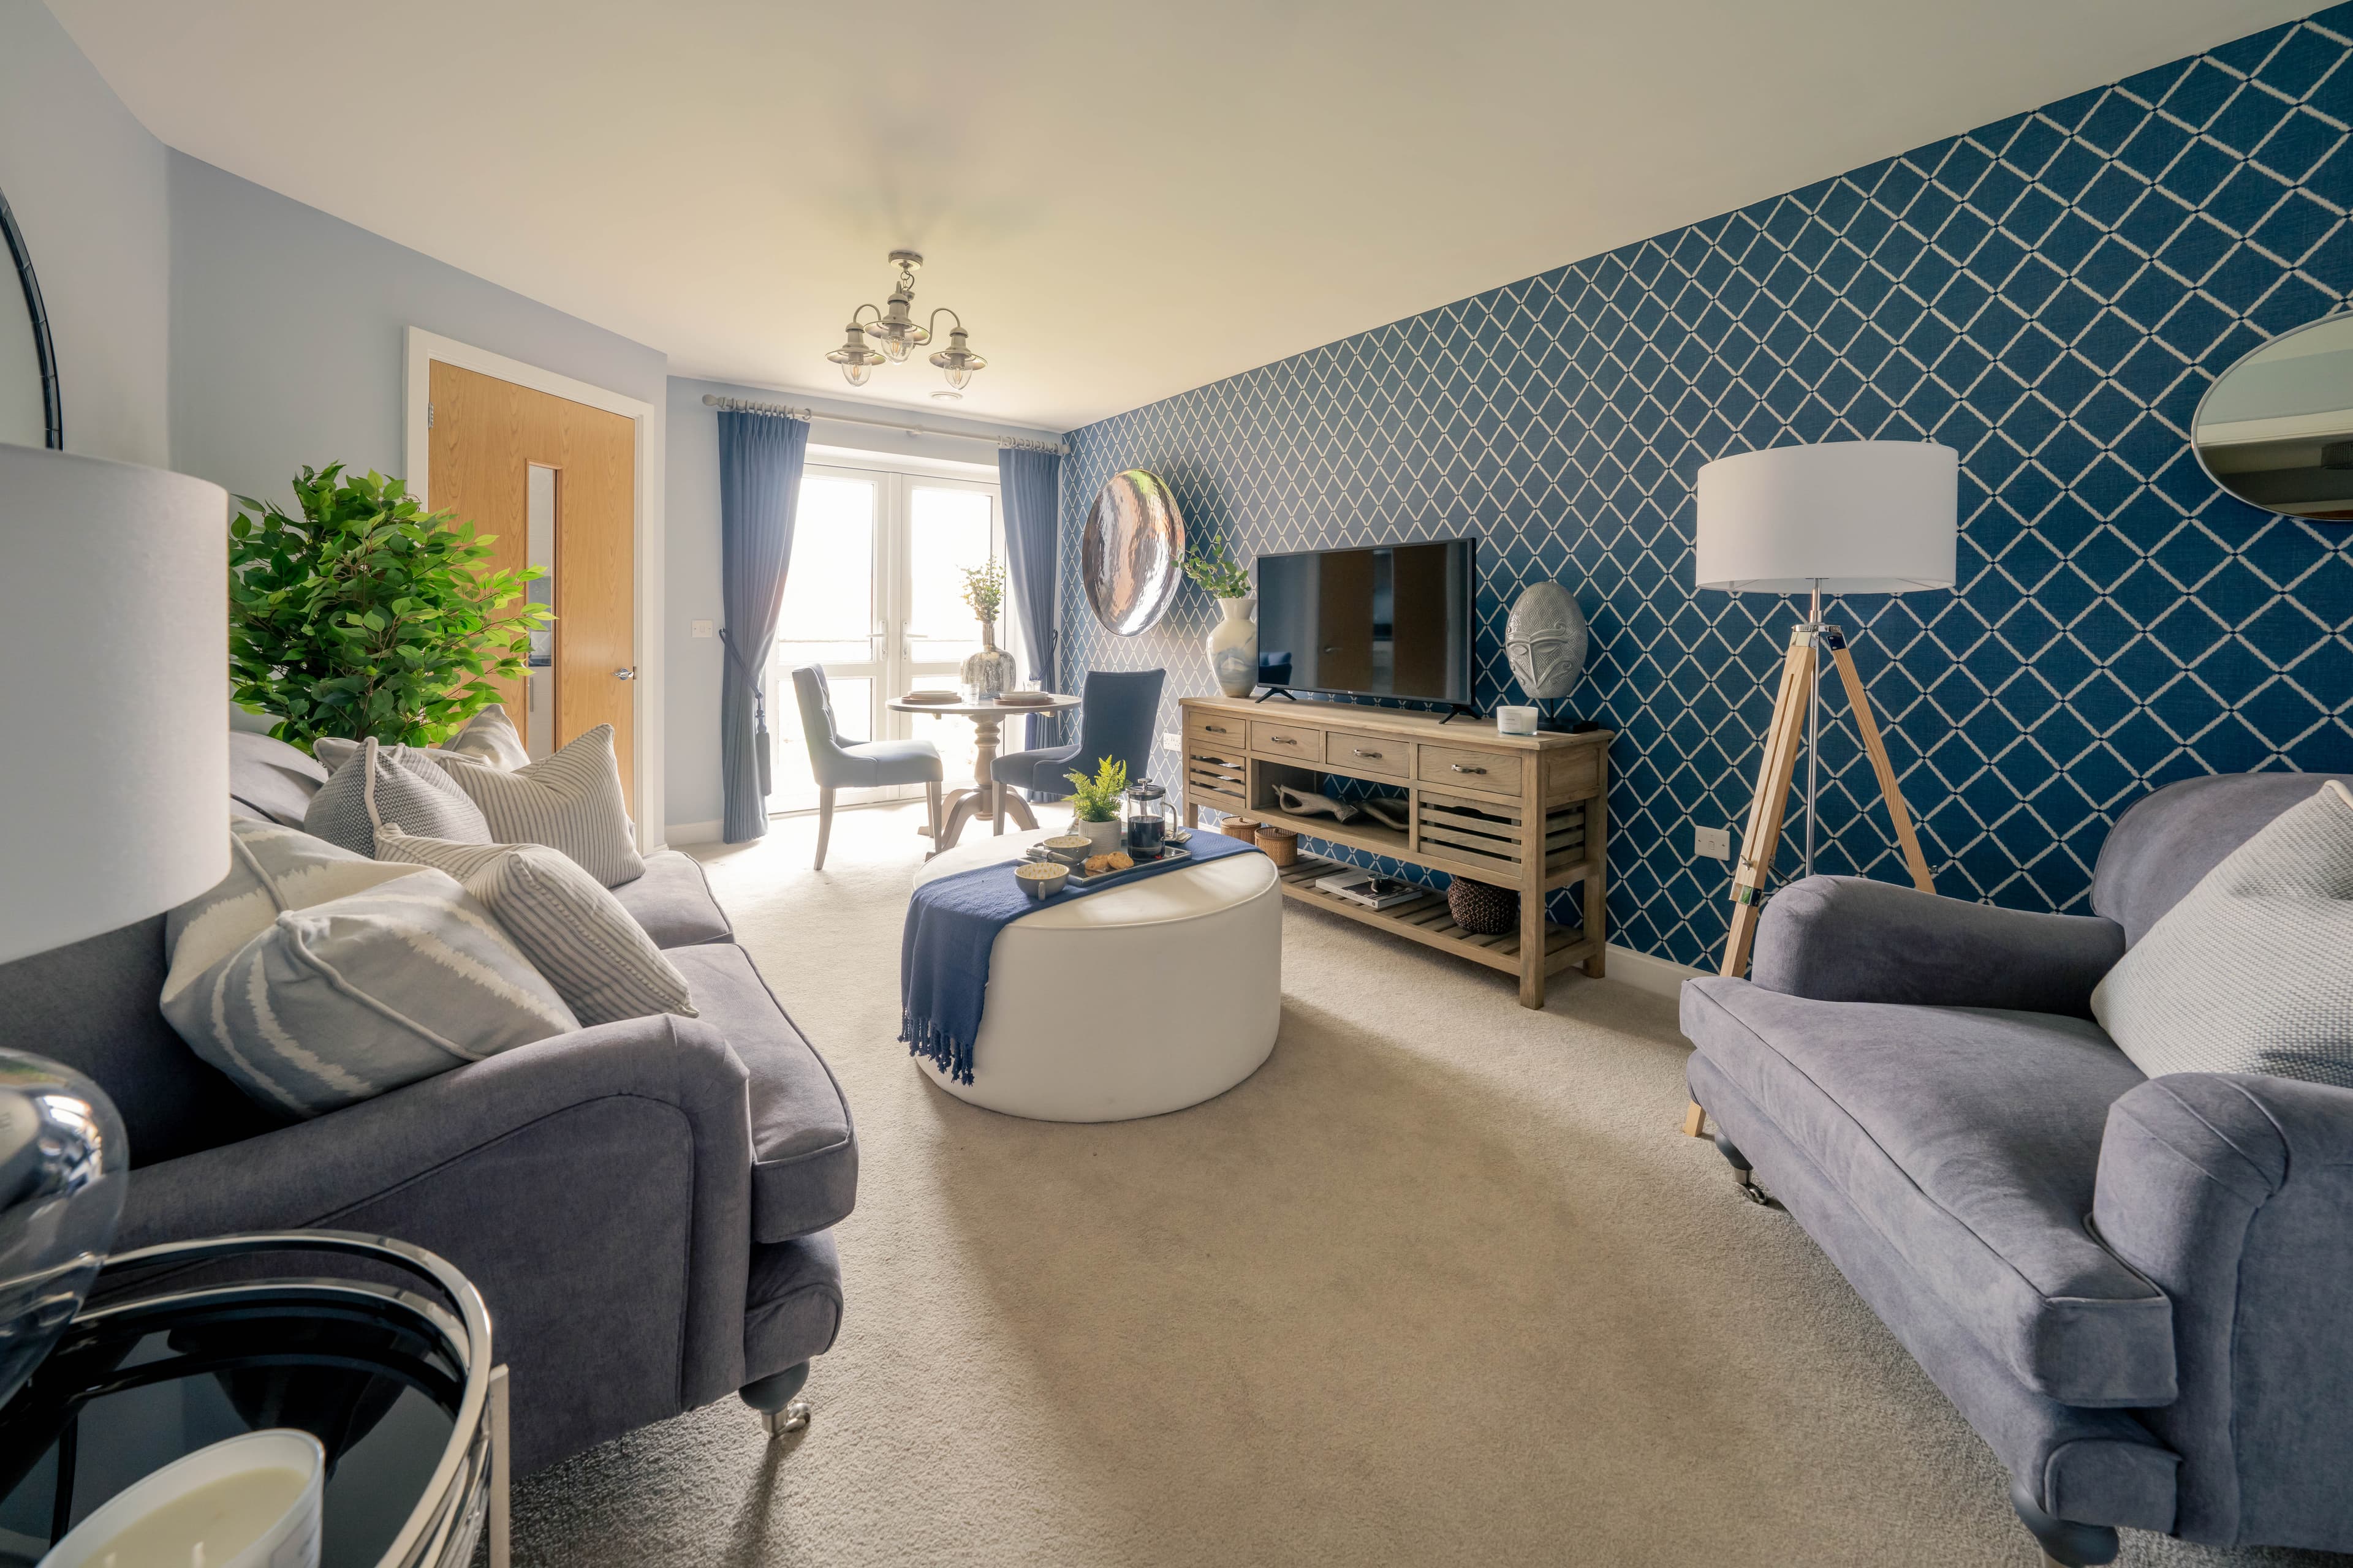
[[[988,999],[988,950],[998,931],[1071,898],[1245,853],[1259,853],[1259,846],[1195,827],[1191,858],[1136,867],[1108,889],[1073,884],[1045,903],[1024,893],[1014,879],[1021,860],[998,860],[925,882],[906,907],[906,931],[899,936],[899,1039],[911,1056],[925,1058],[958,1084],[969,1084],[972,1041],[981,1034],[981,1004]]]

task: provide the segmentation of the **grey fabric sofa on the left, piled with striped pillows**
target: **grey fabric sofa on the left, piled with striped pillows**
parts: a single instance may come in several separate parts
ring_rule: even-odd
[[[301,825],[325,773],[235,736],[231,811]],[[699,1018],[609,1023],[287,1124],[158,1011],[162,919],[0,966],[9,1044],[94,1077],[122,1112],[118,1248],[334,1227],[426,1246],[482,1291],[536,1469],[729,1392],[786,1415],[842,1321],[831,1225],[856,1197],[849,1107],[701,867],[647,856],[614,896]]]

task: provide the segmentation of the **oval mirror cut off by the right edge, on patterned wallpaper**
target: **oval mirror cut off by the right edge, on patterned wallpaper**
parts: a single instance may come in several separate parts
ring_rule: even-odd
[[[2226,369],[2198,404],[2191,444],[2247,505],[2353,522],[2353,313],[2275,336]]]

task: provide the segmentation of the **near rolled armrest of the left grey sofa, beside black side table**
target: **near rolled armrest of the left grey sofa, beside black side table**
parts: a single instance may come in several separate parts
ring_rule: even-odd
[[[118,1248],[336,1227],[440,1253],[489,1305],[529,1469],[741,1385],[746,1084],[708,1023],[560,1034],[136,1168]]]

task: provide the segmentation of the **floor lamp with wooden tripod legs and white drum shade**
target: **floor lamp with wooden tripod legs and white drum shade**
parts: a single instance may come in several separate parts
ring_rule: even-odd
[[[1699,470],[1697,585],[1812,595],[1805,621],[1791,630],[1772,726],[1765,731],[1765,762],[1732,875],[1732,933],[1725,940],[1722,973],[1737,976],[1748,966],[1758,896],[1772,877],[1781,811],[1798,762],[1800,703],[1807,745],[1805,872],[1814,875],[1824,649],[1838,661],[1854,729],[1861,731],[1880,776],[1880,795],[1887,797],[1887,816],[1894,818],[1904,865],[1922,893],[1937,891],[1847,637],[1821,621],[1821,595],[1951,588],[1958,541],[1960,454],[1937,442],[1772,447],[1718,458]]]

